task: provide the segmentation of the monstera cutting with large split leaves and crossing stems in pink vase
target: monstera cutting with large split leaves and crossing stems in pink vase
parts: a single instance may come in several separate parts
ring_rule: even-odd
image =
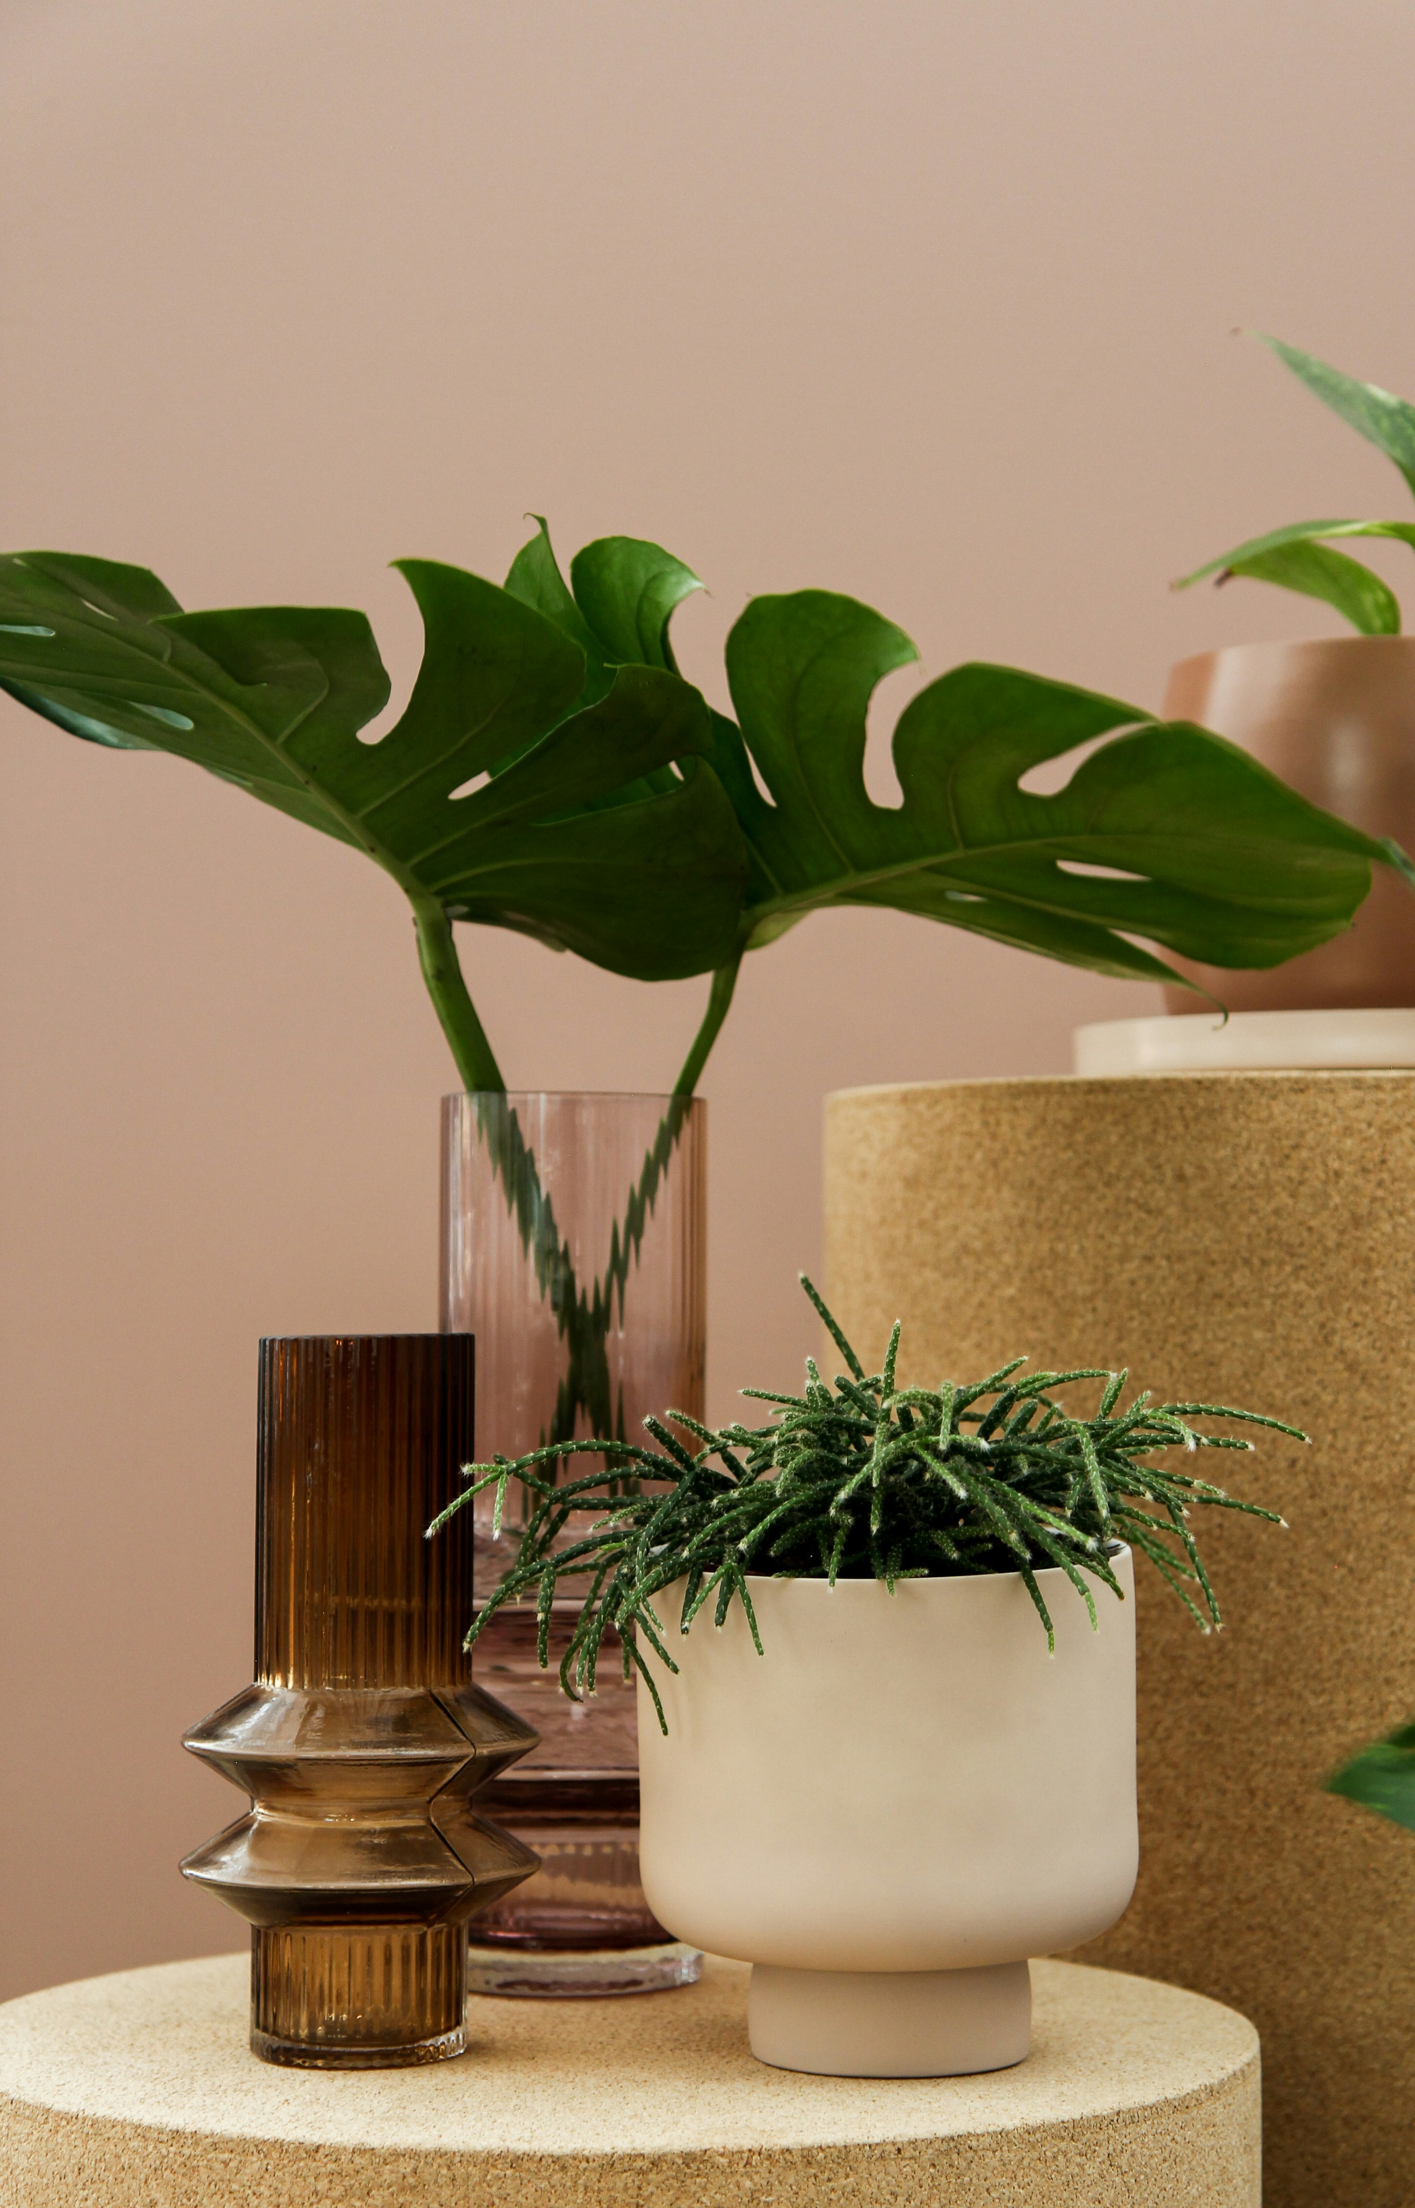
[[[753,598],[726,645],[735,720],[678,673],[698,576],[607,537],[563,578],[545,526],[506,585],[400,561],[426,629],[408,709],[340,607],[188,614],[143,567],[0,561],[0,684],[68,733],[168,751],[373,859],[413,910],[422,974],[494,1175],[556,1312],[545,1442],[614,1431],[605,1336],[623,1303],[742,958],[828,905],[887,905],[1068,965],[1174,978],[1146,945],[1269,967],[1351,925],[1393,846],[1300,799],[1221,737],[1009,667],[965,665],[894,731],[898,808],[863,782],[876,682],[916,658],[868,605]],[[1066,788],[1029,768],[1110,737]],[[634,980],[711,976],[603,1265],[576,1276],[457,958],[455,921],[512,927]],[[623,1426],[623,1420],[620,1420]]]

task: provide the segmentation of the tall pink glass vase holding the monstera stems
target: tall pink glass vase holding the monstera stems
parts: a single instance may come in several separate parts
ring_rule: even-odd
[[[662,1095],[466,1093],[441,1115],[441,1323],[477,1336],[477,1457],[642,1437],[649,1411],[702,1418],[706,1104]],[[574,1462],[574,1459],[570,1459]],[[492,1537],[479,1497],[483,1601],[514,1559],[525,1490]],[[574,1528],[565,1532],[574,1539]],[[499,1612],[477,1678],[541,1735],[486,1795],[541,1870],[472,1928],[472,1992],[634,1994],[691,1983],[638,1883],[636,1694],[605,1643],[594,1698],[558,1656],[578,1605],[554,1605],[550,1671],[534,1607]]]

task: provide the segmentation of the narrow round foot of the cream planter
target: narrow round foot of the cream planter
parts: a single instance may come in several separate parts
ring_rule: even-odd
[[[985,1970],[781,1970],[757,1963],[751,2049],[819,2078],[969,2078],[1031,2047],[1026,1963]]]

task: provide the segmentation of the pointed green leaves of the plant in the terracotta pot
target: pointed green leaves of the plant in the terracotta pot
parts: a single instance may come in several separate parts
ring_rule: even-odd
[[[1294,375],[1300,375],[1309,391],[1349,422],[1358,435],[1377,446],[1386,459],[1400,468],[1406,490],[1415,492],[1415,406],[1397,400],[1380,384],[1358,384],[1340,369],[1329,369],[1311,353],[1298,353],[1294,344],[1278,338],[1263,338],[1278,360],[1285,360]],[[1283,590],[1302,592],[1307,598],[1324,598],[1362,636],[1397,636],[1400,605],[1395,594],[1371,567],[1333,552],[1333,543],[1349,537],[1395,537],[1415,548],[1415,521],[1291,521],[1267,537],[1249,537],[1221,559],[1205,561],[1194,574],[1185,574],[1174,590],[1188,590],[1214,576],[1227,583],[1234,574],[1254,576],[1258,583],[1278,583]]]

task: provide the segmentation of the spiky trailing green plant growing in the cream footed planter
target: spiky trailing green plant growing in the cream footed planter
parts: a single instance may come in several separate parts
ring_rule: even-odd
[[[545,1665],[556,1594],[583,1594],[561,1660],[561,1687],[576,1700],[594,1694],[600,1645],[614,1632],[625,1678],[629,1665],[638,1665],[664,1724],[638,1636],[671,1671],[678,1669],[656,1601],[680,1583],[680,1632],[687,1634],[709,1603],[713,1623],[722,1625],[740,1601],[762,1654],[753,1574],[828,1579],[832,1585],[837,1579],[883,1579],[894,1592],[901,1579],[1018,1572],[1053,1645],[1038,1570],[1064,1572],[1097,1625],[1088,1579],[1121,1596],[1108,1559],[1115,1543],[1128,1541],[1205,1632],[1221,1623],[1190,1510],[1212,1506],[1283,1521],[1274,1510],[1152,1459],[1170,1448],[1252,1448],[1225,1433],[1203,1433],[1194,1420],[1269,1426],[1298,1442],[1305,1433],[1225,1404],[1155,1404],[1148,1395],[1121,1404],[1128,1373],[1102,1367],[1022,1378],[1026,1358],[1013,1358],[971,1387],[945,1380],[936,1389],[901,1389],[894,1384],[898,1325],[883,1371],[865,1373],[806,1274],[801,1285],[848,1371],[828,1387],[808,1358],[804,1395],[742,1389],[777,1406],[766,1426],[709,1431],[669,1411],[693,1448],[662,1420],[647,1418],[656,1448],[570,1442],[514,1462],[466,1466],[468,1486],[433,1521],[428,1537],[483,1488],[497,1490],[497,1524],[512,1482],[534,1497],[517,1561],[472,1621],[468,1645],[506,1603],[534,1596]],[[1104,1382],[1093,1418],[1066,1409],[1055,1393],[1084,1380]],[[556,1482],[556,1459],[572,1453],[603,1455],[605,1468]],[[574,1524],[585,1517],[592,1524],[576,1537]]]

